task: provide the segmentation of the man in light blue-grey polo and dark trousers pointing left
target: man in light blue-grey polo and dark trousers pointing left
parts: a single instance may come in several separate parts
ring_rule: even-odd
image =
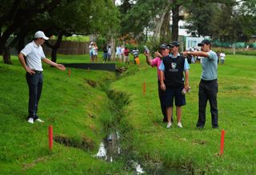
[[[199,109],[198,109],[198,129],[202,129],[206,123],[206,104],[210,102],[211,125],[212,128],[218,128],[218,108],[217,108],[217,71],[218,71],[218,56],[211,50],[209,40],[202,40],[198,44],[202,51],[184,52],[184,55],[194,55],[202,57],[202,75],[199,83]]]

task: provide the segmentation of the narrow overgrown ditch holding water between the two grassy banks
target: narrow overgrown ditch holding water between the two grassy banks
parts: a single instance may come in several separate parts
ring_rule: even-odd
[[[136,150],[126,147],[126,141],[132,136],[127,135],[131,131],[131,127],[127,124],[123,128],[122,122],[126,122],[124,107],[129,105],[129,97],[126,93],[116,92],[108,88],[102,88],[110,99],[110,111],[114,115],[115,120],[106,125],[106,137],[102,139],[98,146],[98,153],[94,157],[101,158],[110,163],[113,161],[124,162],[124,170],[133,174],[187,174],[178,168],[165,167],[163,162],[154,162],[150,160],[142,160],[135,154]],[[141,155],[143,156],[143,155]]]

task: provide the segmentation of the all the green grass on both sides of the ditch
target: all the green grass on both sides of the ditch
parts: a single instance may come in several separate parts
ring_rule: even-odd
[[[130,59],[131,60],[131,59]],[[166,129],[162,123],[158,101],[157,73],[146,65],[128,66],[126,73],[116,79],[105,71],[71,69],[62,72],[44,65],[44,86],[38,114],[44,124],[26,122],[28,89],[25,71],[17,58],[14,65],[0,62],[0,173],[1,174],[123,174],[122,161],[107,163],[92,157],[105,136],[104,125],[113,123],[115,115],[109,108],[110,99],[102,86],[108,82],[113,92],[125,94],[129,104],[124,106],[118,125],[122,133],[122,149],[130,150],[147,170],[163,165],[178,167],[195,174],[255,174],[256,58],[227,55],[225,64],[218,66],[219,129],[211,129],[210,109],[206,109],[206,127],[195,127],[198,119],[198,83],[201,65],[190,65],[191,93],[182,108],[183,129]],[[88,55],[59,55],[58,62],[89,62]],[[118,64],[118,66],[123,66]],[[96,88],[88,81],[96,82]],[[115,82],[114,82],[115,81]],[[146,95],[142,85],[146,82]],[[118,96],[119,97],[119,96]],[[120,96],[121,97],[121,96]],[[122,100],[121,100],[122,101]],[[119,105],[118,105],[119,106]],[[176,116],[174,115],[174,119]],[[83,140],[90,149],[58,144],[49,153],[47,127],[54,134],[74,142]],[[221,130],[225,129],[225,149],[220,148]]]

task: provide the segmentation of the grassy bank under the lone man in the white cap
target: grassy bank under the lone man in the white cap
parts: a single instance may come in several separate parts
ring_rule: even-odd
[[[58,62],[65,61],[59,58]],[[26,122],[25,70],[17,58],[12,62],[0,62],[0,174],[122,173],[122,163],[109,164],[93,157],[106,136],[104,124],[114,120],[109,99],[98,87],[114,81],[115,74],[71,69],[69,77],[68,71],[44,65],[38,115],[46,122],[31,125]],[[52,153],[48,125],[53,125],[58,138]]]

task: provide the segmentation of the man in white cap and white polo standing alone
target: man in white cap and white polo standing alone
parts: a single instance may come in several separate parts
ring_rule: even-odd
[[[18,59],[26,70],[26,82],[29,86],[28,122],[31,124],[34,121],[44,122],[37,114],[38,101],[42,92],[42,62],[54,66],[58,70],[66,70],[65,66],[50,61],[43,53],[41,45],[48,39],[42,31],[38,31],[34,34],[34,41],[27,44],[20,54],[18,54]]]

